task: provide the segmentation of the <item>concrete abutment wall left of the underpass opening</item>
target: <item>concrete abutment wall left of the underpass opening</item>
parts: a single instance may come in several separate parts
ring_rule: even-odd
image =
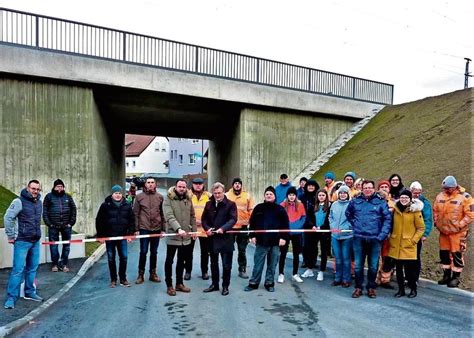
[[[19,193],[30,179],[42,195],[61,178],[78,208],[76,231],[94,219],[113,184],[124,184],[124,134],[102,116],[92,89],[0,78],[0,177]]]

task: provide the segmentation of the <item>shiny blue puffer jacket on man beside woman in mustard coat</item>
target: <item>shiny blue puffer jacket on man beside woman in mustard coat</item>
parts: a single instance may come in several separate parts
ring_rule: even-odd
[[[346,217],[352,224],[355,237],[383,241],[392,229],[392,213],[388,204],[375,193],[368,199],[363,194],[352,199]]]

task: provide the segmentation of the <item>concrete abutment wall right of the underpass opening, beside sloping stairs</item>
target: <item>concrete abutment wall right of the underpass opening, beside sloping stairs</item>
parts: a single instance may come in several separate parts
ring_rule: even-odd
[[[352,123],[313,114],[243,109],[232,146],[221,152],[227,171],[221,176],[241,176],[244,187],[262,200],[264,189],[275,186],[280,174],[298,174]]]

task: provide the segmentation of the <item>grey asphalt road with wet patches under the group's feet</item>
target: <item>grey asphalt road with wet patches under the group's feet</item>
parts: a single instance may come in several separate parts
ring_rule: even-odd
[[[197,244],[197,243],[196,243]],[[164,279],[166,245],[160,243],[159,275]],[[195,247],[195,258],[199,246]],[[234,255],[236,256],[236,255]],[[253,248],[248,248],[249,270]],[[236,257],[234,257],[235,259]],[[138,245],[129,246],[128,278],[136,278]],[[422,283],[418,297],[395,299],[378,290],[377,299],[352,299],[352,288],[332,287],[325,280],[302,284],[286,281],[276,292],[263,287],[244,292],[234,262],[230,295],[204,294],[210,283],[198,276],[198,259],[189,294],[166,294],[164,281],[108,287],[106,255],[65,296],[17,332],[18,337],[461,337],[472,336],[473,297],[445,292]],[[291,261],[287,260],[287,279]],[[302,271],[301,271],[302,272]]]

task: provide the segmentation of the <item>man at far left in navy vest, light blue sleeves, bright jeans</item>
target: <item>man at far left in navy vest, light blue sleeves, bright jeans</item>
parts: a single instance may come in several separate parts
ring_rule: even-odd
[[[36,293],[34,280],[40,261],[41,239],[41,186],[38,180],[31,180],[20,197],[15,198],[7,209],[3,223],[8,243],[13,245],[13,268],[8,278],[7,299],[4,308],[15,308],[20,298],[20,285],[25,281],[25,299],[42,302]]]

